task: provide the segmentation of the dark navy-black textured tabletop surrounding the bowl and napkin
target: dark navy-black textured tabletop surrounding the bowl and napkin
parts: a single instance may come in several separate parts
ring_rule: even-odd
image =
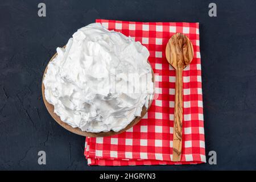
[[[45,18],[38,16],[39,2],[46,3]],[[210,2],[217,17],[208,16]],[[0,169],[256,169],[255,9],[253,0],[1,0]],[[206,152],[217,152],[217,165],[87,166],[85,138],[53,121],[41,81],[56,47],[96,18],[200,22]],[[38,164],[40,150],[46,165]]]

